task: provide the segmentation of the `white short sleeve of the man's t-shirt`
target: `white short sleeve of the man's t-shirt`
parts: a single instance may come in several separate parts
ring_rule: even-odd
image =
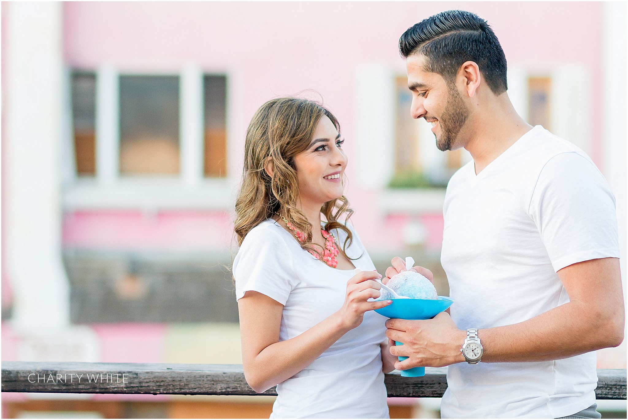
[[[577,262],[619,258],[615,197],[597,167],[578,153],[548,160],[529,214],[556,272]]]

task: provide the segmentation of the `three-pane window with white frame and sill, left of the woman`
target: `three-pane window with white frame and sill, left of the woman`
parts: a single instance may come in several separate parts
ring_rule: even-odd
[[[229,209],[227,75],[73,72],[67,209]],[[68,113],[70,114],[70,113]],[[72,124],[72,123],[70,123]]]

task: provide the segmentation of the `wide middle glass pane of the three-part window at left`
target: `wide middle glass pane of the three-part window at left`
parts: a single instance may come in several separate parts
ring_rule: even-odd
[[[179,77],[120,77],[120,173],[179,173]]]

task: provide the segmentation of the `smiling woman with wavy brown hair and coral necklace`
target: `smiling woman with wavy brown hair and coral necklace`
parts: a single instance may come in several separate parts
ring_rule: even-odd
[[[256,392],[278,385],[271,418],[389,417],[395,358],[372,309],[391,301],[368,301],[381,275],[346,223],[342,143],[332,113],[296,97],[247,130],[233,273],[244,375]]]

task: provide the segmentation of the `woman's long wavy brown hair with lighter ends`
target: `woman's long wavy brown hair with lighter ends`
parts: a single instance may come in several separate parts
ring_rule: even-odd
[[[299,188],[294,157],[307,150],[323,116],[327,116],[340,132],[338,119],[310,99],[278,97],[257,109],[246,132],[242,185],[236,200],[234,230],[238,245],[242,245],[244,237],[257,224],[278,215],[305,232],[301,248],[315,251],[322,257],[323,248],[311,242],[311,224],[296,207]],[[264,170],[268,157],[274,165],[272,177]],[[328,201],[323,204],[321,213],[327,219],[325,230],[342,229],[347,233],[340,251],[349,258],[345,250],[351,245],[353,236],[349,228],[338,221],[344,216],[346,223],[354,213],[349,208],[349,200],[342,196]]]

